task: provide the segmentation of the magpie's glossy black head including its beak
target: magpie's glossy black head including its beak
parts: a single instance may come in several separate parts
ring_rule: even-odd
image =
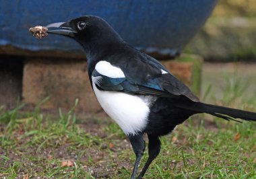
[[[94,46],[123,42],[122,38],[102,18],[86,15],[69,22],[57,22],[46,26],[49,34],[59,34],[75,39],[86,50]]]

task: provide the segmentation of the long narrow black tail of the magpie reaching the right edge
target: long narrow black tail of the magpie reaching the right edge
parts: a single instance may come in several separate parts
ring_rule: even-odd
[[[179,105],[179,104],[178,104]],[[212,104],[205,104],[202,102],[192,102],[188,104],[180,104],[179,107],[192,110],[195,113],[207,113],[224,118],[226,120],[235,120],[235,118],[241,118],[243,120],[256,121],[256,113],[245,110],[237,110],[233,108],[226,108],[223,106],[215,106]],[[237,121],[237,120],[235,120]]]

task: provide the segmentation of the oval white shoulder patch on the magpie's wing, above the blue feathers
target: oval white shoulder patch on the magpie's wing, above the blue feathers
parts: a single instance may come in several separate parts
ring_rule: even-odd
[[[99,61],[95,66],[96,71],[101,75],[105,75],[107,77],[119,78],[125,77],[125,74],[119,67],[115,67],[111,65],[107,61]]]

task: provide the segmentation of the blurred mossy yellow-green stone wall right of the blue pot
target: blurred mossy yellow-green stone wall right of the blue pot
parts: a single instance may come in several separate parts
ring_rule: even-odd
[[[203,29],[185,48],[206,61],[254,61],[256,1],[220,0]]]

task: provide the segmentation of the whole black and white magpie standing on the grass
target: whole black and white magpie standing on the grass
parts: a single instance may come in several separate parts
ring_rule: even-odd
[[[88,75],[98,102],[129,138],[136,177],[148,135],[148,161],[142,178],[160,152],[159,137],[193,114],[207,113],[226,120],[256,121],[256,113],[199,102],[189,88],[160,62],[133,48],[102,18],[88,15],[46,26],[49,34],[73,38],[88,59]]]

